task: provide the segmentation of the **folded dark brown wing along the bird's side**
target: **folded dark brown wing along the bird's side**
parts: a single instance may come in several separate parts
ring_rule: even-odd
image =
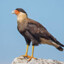
[[[52,40],[56,44],[61,45],[64,47],[63,44],[61,44],[59,41],[56,40],[47,30],[45,27],[43,27],[40,23],[36,21],[28,22],[28,25],[26,27],[27,31],[36,39],[45,38],[47,40]]]

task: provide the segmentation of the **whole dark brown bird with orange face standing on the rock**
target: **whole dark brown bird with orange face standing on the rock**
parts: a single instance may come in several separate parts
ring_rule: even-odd
[[[30,61],[34,57],[34,46],[39,44],[48,44],[54,46],[59,51],[63,51],[64,45],[61,44],[48,30],[39,22],[30,19],[26,11],[22,8],[16,8],[12,14],[17,16],[17,29],[19,33],[25,38],[27,48],[24,57],[29,58]],[[32,54],[28,55],[28,48],[32,42]]]

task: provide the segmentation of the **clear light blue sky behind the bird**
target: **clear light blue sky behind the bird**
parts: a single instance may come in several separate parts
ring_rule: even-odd
[[[17,30],[17,17],[11,14],[23,8],[28,17],[38,21],[64,44],[64,0],[1,0],[0,1],[0,64],[11,64],[25,54],[26,42]],[[31,55],[32,45],[28,54]],[[64,51],[50,45],[35,46],[34,57],[64,61]]]

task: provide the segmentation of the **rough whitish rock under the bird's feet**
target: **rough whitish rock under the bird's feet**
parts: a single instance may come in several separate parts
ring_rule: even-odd
[[[51,59],[31,59],[31,61],[28,62],[28,58],[20,56],[15,58],[12,64],[64,64],[64,62]]]

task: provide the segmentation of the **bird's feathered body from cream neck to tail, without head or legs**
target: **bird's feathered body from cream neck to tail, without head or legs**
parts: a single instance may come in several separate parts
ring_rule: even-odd
[[[17,16],[18,30],[22,34],[27,42],[30,45],[39,44],[49,44],[58,48],[62,44],[58,42],[40,23],[29,19],[27,16],[19,15]]]

